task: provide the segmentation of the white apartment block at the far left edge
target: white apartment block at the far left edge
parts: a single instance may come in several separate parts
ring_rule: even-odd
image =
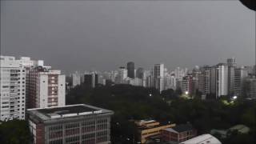
[[[0,120],[25,119],[26,70],[14,57],[0,58]]]

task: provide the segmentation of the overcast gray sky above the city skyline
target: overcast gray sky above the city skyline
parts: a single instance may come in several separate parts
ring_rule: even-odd
[[[238,1],[1,2],[4,55],[66,72],[254,63],[255,13]]]

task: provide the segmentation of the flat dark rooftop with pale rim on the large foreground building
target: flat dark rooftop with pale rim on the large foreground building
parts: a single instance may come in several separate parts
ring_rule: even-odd
[[[86,104],[79,104],[69,106],[55,106],[49,108],[28,109],[28,113],[31,116],[36,117],[38,121],[47,121],[58,118],[70,118],[90,114],[113,114],[113,111]]]

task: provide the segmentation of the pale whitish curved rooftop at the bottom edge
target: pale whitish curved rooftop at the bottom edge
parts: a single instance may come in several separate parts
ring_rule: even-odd
[[[180,144],[222,144],[222,142],[210,134],[202,134]]]

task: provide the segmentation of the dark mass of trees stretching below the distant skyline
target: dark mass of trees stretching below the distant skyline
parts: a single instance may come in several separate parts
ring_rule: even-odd
[[[111,137],[114,143],[131,143],[126,139],[135,138],[133,120],[147,118],[163,123],[190,122],[199,134],[210,133],[211,129],[225,130],[237,124],[244,124],[250,127],[250,134],[234,133],[226,139],[221,139],[222,143],[256,143],[256,102],[230,102],[226,98],[202,101],[197,97],[181,98],[180,94],[180,90],[165,90],[159,94],[154,88],[130,85],[98,86],[94,89],[76,86],[70,90],[66,102],[86,103],[114,110],[111,123]]]

